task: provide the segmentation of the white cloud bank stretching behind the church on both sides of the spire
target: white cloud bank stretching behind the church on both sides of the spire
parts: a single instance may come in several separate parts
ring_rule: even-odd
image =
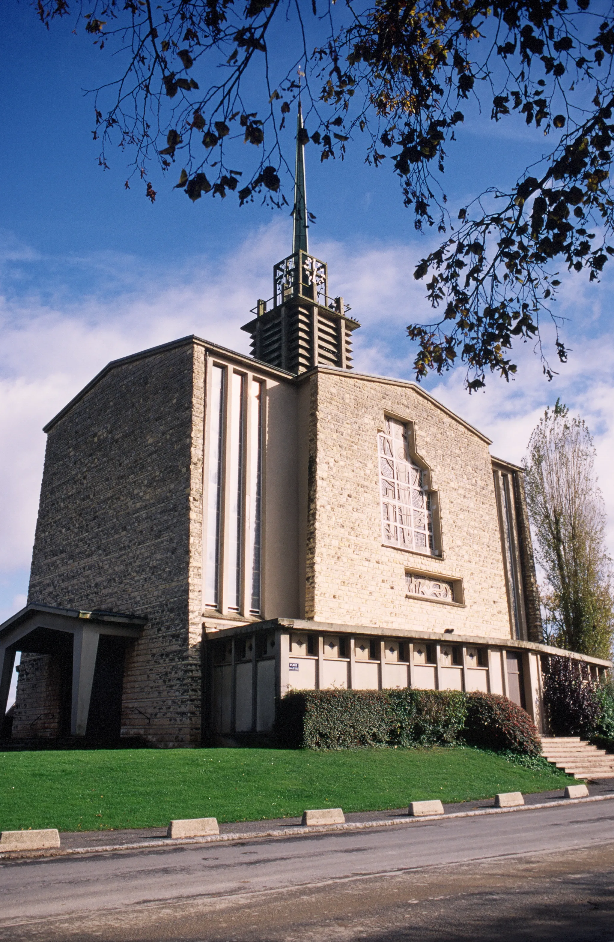
[[[215,263],[192,258],[179,271],[152,271],[137,258],[109,254],[43,259],[6,240],[4,253],[0,251],[5,270],[5,296],[0,299],[0,578],[29,566],[45,422],[109,360],[138,349],[196,333],[247,352],[248,336],[239,328],[256,299],[271,294],[272,263],[283,257],[285,230],[280,223],[262,227],[232,257]],[[405,327],[431,317],[424,285],[412,277],[418,255],[428,252],[427,241],[418,250],[415,243],[321,243],[313,249],[329,262],[331,294],[344,295],[352,316],[363,324],[355,334],[355,367],[412,379]],[[75,272],[74,283],[85,284],[87,276],[87,290],[70,289]],[[36,279],[42,285],[38,290],[32,287]],[[569,329],[574,350],[552,383],[544,380],[527,344],[518,349],[515,382],[492,378],[486,392],[469,397],[460,368],[429,379],[426,388],[493,438],[493,454],[515,462],[542,410],[558,396],[584,415],[595,435],[614,547],[609,491],[614,344],[605,333],[599,335],[607,288],[577,279],[564,287],[560,308],[574,315]]]

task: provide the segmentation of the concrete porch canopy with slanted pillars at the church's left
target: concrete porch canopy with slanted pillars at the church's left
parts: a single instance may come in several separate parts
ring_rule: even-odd
[[[85,736],[101,636],[135,642],[148,619],[112,611],[78,611],[31,603],[0,625],[0,728],[18,651],[73,656],[71,736]]]

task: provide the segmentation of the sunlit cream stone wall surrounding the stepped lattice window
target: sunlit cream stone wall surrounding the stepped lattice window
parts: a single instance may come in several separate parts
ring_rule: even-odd
[[[411,386],[319,369],[313,384],[308,618],[509,638],[488,441]],[[381,542],[377,436],[412,422],[439,492],[444,556]],[[406,597],[407,569],[462,579],[465,607]]]

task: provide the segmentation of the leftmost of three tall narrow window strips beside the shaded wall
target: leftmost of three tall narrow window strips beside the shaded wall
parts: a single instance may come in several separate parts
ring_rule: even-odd
[[[204,577],[204,604],[218,608],[219,524],[221,519],[221,469],[224,435],[224,369],[212,367],[209,407],[209,479],[207,491],[207,543]]]

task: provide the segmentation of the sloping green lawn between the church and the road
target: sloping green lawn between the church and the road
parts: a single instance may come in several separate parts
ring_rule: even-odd
[[[294,817],[304,808],[384,810],[497,791],[564,788],[477,749],[139,749],[0,753],[0,831],[159,827],[171,818]]]

